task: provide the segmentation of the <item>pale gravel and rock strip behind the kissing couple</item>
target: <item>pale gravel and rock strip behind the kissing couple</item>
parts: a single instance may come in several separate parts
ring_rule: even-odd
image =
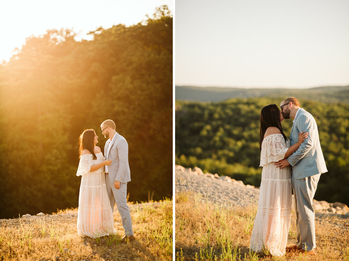
[[[201,196],[200,201],[207,200],[212,203],[223,204],[224,206],[250,206],[251,203],[258,204],[259,188],[251,185],[244,185],[239,180],[231,179],[228,176],[203,173],[198,167],[186,169],[176,165],[175,188],[176,193],[193,192]],[[293,195],[292,195],[293,197]],[[292,208],[293,208],[292,199]],[[349,208],[346,204],[335,202],[313,200],[315,212],[322,214],[340,214],[349,216]]]

